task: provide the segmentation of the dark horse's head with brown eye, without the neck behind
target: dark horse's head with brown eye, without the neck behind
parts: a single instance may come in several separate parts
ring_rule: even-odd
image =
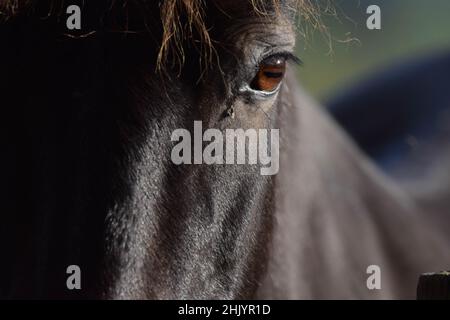
[[[14,243],[3,293],[251,296],[273,175],[194,159],[207,141],[178,154],[192,162],[180,165],[174,132],[193,145],[194,121],[224,136],[279,128],[298,2],[90,1],[82,29],[67,30],[64,1],[6,1],[6,127],[26,137],[13,137],[17,158],[3,160],[17,172],[4,225],[23,226],[2,234]],[[75,293],[72,264],[83,274]]]

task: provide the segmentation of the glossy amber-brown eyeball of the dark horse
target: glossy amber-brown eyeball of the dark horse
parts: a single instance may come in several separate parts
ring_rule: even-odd
[[[259,91],[274,91],[283,80],[285,71],[286,59],[284,58],[277,57],[263,61],[250,87]]]

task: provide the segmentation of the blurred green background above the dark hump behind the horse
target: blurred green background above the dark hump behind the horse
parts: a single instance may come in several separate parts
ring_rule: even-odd
[[[450,49],[450,0],[329,2],[336,11],[322,14],[329,37],[319,30],[308,32],[306,38],[299,36],[297,46],[304,62],[297,69],[301,83],[322,102],[371,73]],[[381,8],[381,30],[366,27],[366,9],[373,4]]]

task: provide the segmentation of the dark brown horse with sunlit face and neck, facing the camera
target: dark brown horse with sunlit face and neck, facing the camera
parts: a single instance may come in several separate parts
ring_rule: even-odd
[[[81,30],[67,1],[0,2],[1,297],[414,298],[448,267],[448,215],[297,83],[296,19],[318,22],[315,2],[74,4]],[[195,121],[279,129],[278,174],[173,163]]]

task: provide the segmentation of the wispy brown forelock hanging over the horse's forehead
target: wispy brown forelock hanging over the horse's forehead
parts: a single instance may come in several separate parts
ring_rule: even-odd
[[[97,1],[97,0],[96,0]],[[100,0],[102,1],[102,0]],[[105,12],[127,6],[142,7],[155,0],[103,0]],[[210,0],[209,0],[210,1]],[[261,16],[282,15],[286,11],[296,14],[300,19],[320,27],[320,0],[241,0]],[[0,20],[8,20],[19,14],[32,14],[36,7],[45,7],[50,15],[62,15],[64,7],[73,3],[65,0],[0,0]],[[73,2],[73,1],[72,1]],[[195,40],[199,44],[201,59],[210,63],[214,52],[209,27],[206,23],[205,0],[161,0],[159,2],[160,22],[162,26],[161,44],[157,57],[157,66],[161,69],[169,57],[183,64],[186,40]],[[42,8],[41,8],[42,9]]]

